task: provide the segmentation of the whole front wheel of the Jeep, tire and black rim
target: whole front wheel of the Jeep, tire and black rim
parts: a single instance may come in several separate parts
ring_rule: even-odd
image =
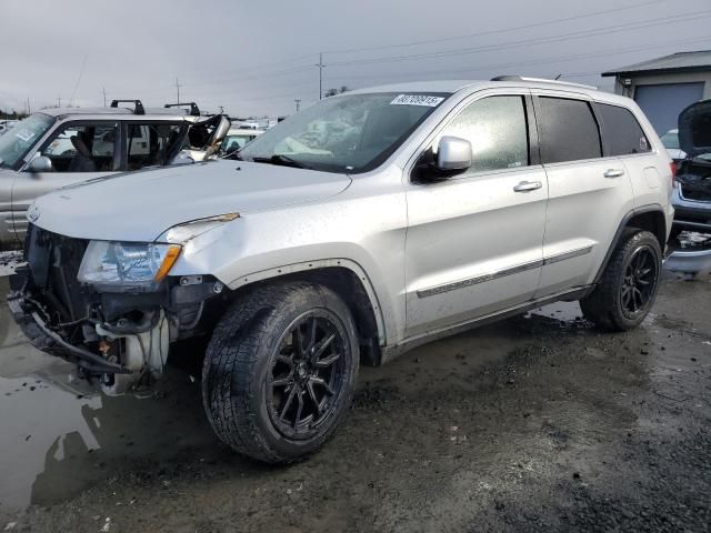
[[[208,419],[240,453],[300,460],[344,418],[358,359],[356,324],[338,294],[311,283],[257,289],[232,304],[208,346]]]

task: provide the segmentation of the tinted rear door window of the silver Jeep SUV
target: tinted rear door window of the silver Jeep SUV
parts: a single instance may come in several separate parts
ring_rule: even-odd
[[[589,102],[539,97],[535,118],[543,163],[602,157],[600,131]]]

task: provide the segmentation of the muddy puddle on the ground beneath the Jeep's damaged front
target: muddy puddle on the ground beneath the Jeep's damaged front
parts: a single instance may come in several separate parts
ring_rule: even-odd
[[[0,278],[0,294],[7,278]],[[157,395],[107,398],[72,379],[72,365],[24,341],[0,305],[0,510],[52,504],[130,460],[206,455],[217,441],[199,383],[171,369]]]

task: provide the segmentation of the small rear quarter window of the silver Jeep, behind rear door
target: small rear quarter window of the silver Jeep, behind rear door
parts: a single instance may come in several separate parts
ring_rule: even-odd
[[[630,155],[652,150],[644,130],[629,109],[598,103],[602,122],[602,143],[605,155]]]

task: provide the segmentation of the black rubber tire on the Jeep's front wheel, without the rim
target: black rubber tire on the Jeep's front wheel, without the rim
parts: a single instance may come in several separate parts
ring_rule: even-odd
[[[280,339],[299,316],[329,312],[343,332],[343,389],[332,413],[309,439],[284,436],[270,416],[268,375]],[[358,375],[354,320],[341,298],[307,282],[276,283],[238,299],[218,323],[206,352],[202,400],[217,435],[237,452],[267,463],[289,463],[317,451],[346,416]]]

